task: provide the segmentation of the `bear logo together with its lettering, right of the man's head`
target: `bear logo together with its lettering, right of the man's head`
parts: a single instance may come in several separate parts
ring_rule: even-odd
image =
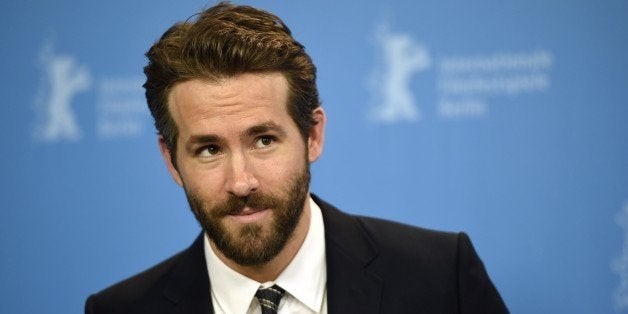
[[[369,114],[376,122],[424,118],[414,99],[416,88],[413,90],[411,79],[431,67],[434,71],[428,75],[434,84],[422,86],[422,90],[434,92],[435,102],[431,105],[435,110],[427,112],[443,120],[482,117],[489,113],[490,102],[503,104],[520,95],[545,93],[551,86],[554,56],[542,47],[438,55],[429,53],[410,33],[391,32],[387,25],[379,26],[374,37],[380,56],[369,82]],[[430,104],[421,102],[421,107],[426,105]]]

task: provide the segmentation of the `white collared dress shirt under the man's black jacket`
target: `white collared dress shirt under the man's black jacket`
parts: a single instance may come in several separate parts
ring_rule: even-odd
[[[312,198],[309,202],[311,218],[305,240],[294,259],[273,282],[260,283],[229,268],[216,256],[205,236],[205,262],[217,314],[261,313],[255,292],[273,284],[286,290],[278,313],[327,313],[325,226],[321,209]]]

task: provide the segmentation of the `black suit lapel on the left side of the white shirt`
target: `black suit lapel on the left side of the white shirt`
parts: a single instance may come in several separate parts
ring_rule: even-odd
[[[201,233],[183,252],[163,294],[172,303],[174,313],[214,313],[209,287]]]

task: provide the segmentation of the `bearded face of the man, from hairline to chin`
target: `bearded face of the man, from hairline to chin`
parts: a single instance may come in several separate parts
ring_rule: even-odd
[[[240,265],[275,257],[307,205],[309,162],[320,154],[322,125],[320,143],[312,132],[306,143],[288,114],[287,98],[280,73],[218,83],[195,79],[169,95],[179,129],[177,168],[163,141],[162,155],[208,237]],[[316,112],[324,123],[322,110]]]

